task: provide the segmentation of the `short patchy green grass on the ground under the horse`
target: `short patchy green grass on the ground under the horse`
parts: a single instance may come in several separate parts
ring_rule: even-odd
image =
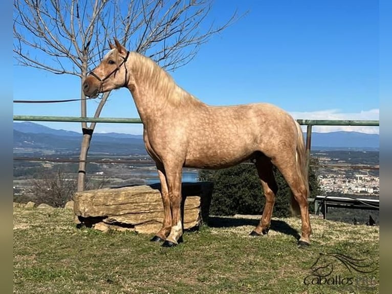
[[[254,219],[212,218],[163,248],[152,236],[77,229],[64,209],[14,208],[14,293],[377,293],[379,227],[312,219],[312,245],[298,248],[296,218],[274,219],[268,236],[248,236]],[[334,276],[361,286],[305,285],[319,253],[366,258],[375,270]]]

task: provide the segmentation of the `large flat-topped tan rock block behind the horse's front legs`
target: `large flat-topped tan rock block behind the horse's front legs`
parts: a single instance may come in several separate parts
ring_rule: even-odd
[[[182,184],[185,229],[198,228],[208,221],[212,186],[210,182]],[[81,224],[103,231],[128,228],[138,233],[155,233],[163,221],[160,184],[77,192],[74,213]]]

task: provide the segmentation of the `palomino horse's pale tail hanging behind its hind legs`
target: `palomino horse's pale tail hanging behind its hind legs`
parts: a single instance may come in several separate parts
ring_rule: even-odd
[[[309,197],[309,181],[308,181],[308,164],[306,160],[306,149],[305,149],[305,143],[303,140],[303,134],[301,130],[301,126],[299,123],[295,121],[295,125],[297,127],[297,148],[296,148],[296,153],[295,153],[295,164],[297,167],[297,173],[299,177],[302,179],[302,183],[306,187],[306,201],[308,201]],[[298,216],[300,215],[300,209],[299,209],[299,204],[297,200],[294,198],[293,192],[290,190],[290,198],[291,198],[291,214],[293,216]]]

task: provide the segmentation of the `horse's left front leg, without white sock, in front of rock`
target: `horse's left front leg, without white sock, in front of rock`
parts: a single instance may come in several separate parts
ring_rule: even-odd
[[[163,164],[157,164],[158,176],[161,181],[161,197],[163,203],[163,224],[161,229],[155,234],[155,236],[150,240],[153,242],[165,241],[166,237],[170,234],[171,229],[171,208],[170,208],[170,198],[169,191],[167,188],[166,175]]]

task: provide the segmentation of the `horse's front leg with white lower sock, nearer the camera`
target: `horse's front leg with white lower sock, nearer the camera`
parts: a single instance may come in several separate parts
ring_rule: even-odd
[[[170,198],[171,210],[171,230],[166,241],[162,244],[164,247],[176,246],[182,240],[183,223],[181,217],[181,180],[182,180],[182,165],[176,168],[167,168],[166,181]]]

